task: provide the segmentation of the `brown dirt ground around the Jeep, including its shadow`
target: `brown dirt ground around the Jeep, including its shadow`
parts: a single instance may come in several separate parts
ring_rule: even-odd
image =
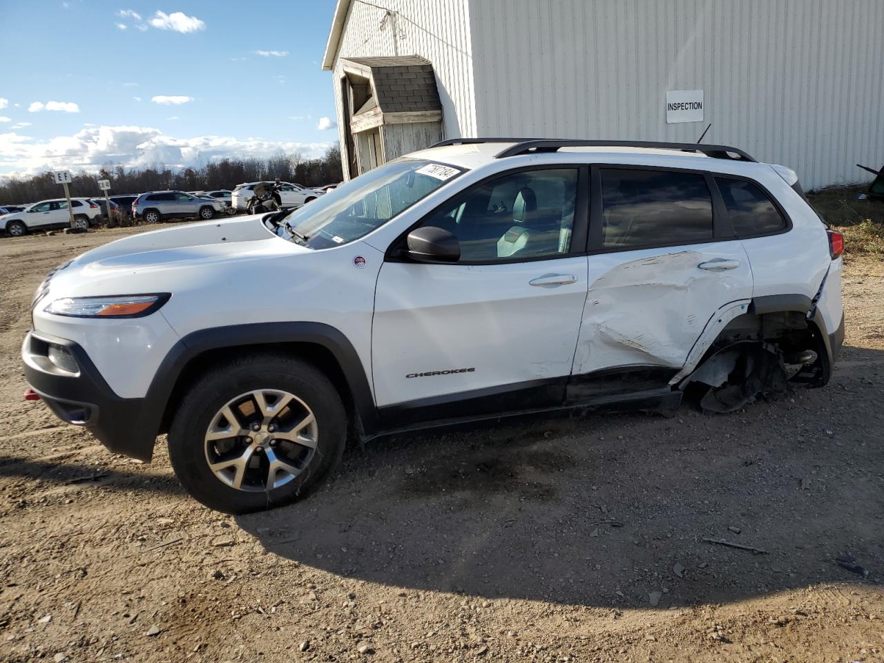
[[[826,388],[379,440],[232,517],[164,444],[143,465],[22,400],[40,280],[139,230],[0,240],[0,659],[884,660],[880,259],[848,263]]]

